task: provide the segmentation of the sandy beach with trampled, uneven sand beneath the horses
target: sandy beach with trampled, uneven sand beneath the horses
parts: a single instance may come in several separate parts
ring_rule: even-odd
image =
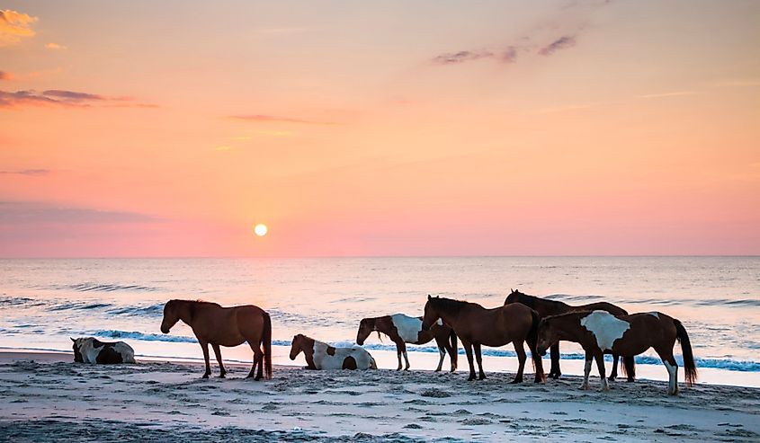
[[[508,385],[493,373],[275,367],[272,380],[201,379],[196,363],[74,364],[66,353],[0,353],[3,441],[757,441],[760,389],[579,377]],[[215,368],[216,370],[216,368]],[[598,378],[593,387],[598,386]]]

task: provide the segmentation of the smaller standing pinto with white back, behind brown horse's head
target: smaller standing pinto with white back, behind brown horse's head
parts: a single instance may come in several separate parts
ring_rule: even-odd
[[[438,344],[438,354],[441,359],[438,361],[438,372],[443,368],[443,359],[446,352],[452,358],[452,372],[457,370],[457,334],[452,328],[438,321],[430,327],[430,330],[423,331],[422,317],[410,317],[409,315],[394,314],[383,315],[381,317],[362,318],[359,323],[359,332],[356,333],[356,344],[362,345],[372,332],[380,332],[389,336],[390,341],[396,343],[396,354],[398,357],[398,368],[401,370],[401,355],[404,355],[409,370],[409,358],[407,357],[407,343],[425,344],[435,339]]]

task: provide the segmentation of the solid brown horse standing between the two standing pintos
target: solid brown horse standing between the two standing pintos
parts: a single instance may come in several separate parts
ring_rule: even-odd
[[[480,355],[480,346],[504,346],[510,341],[517,352],[519,366],[517,375],[512,383],[523,381],[523,369],[525,368],[525,349],[523,342],[528,342],[532,353],[533,366],[536,370],[536,383],[544,381],[541,356],[536,351],[536,332],[541,317],[528,306],[515,303],[513,305],[499,306],[494,309],[486,309],[477,303],[468,303],[451,298],[427,296],[425,303],[425,316],[423,317],[423,329],[438,321],[452,326],[452,329],[460,338],[464,346],[469,362],[469,378],[475,379],[475,365],[472,363],[472,350],[475,349],[475,358],[478,360],[480,379],[486,378],[483,372],[483,361]]]

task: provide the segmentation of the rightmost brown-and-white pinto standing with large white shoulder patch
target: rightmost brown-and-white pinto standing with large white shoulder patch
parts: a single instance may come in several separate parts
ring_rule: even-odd
[[[686,385],[693,385],[697,379],[692,345],[684,325],[675,318],[658,312],[612,315],[606,311],[586,311],[551,315],[541,320],[538,336],[538,351],[541,354],[545,354],[559,340],[575,341],[583,347],[586,351],[586,367],[581,389],[588,389],[591,361],[596,359],[599,377],[602,377],[602,390],[609,390],[607,379],[604,378],[605,351],[632,360],[634,356],[654,348],[670,376],[667,394],[678,394],[678,364],[673,358],[676,340],[681,342],[684,354]],[[629,374],[633,374],[632,367],[626,369]]]

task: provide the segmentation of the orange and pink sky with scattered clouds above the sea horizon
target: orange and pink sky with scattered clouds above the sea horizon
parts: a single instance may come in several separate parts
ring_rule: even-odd
[[[0,10],[0,257],[760,254],[760,2]]]

